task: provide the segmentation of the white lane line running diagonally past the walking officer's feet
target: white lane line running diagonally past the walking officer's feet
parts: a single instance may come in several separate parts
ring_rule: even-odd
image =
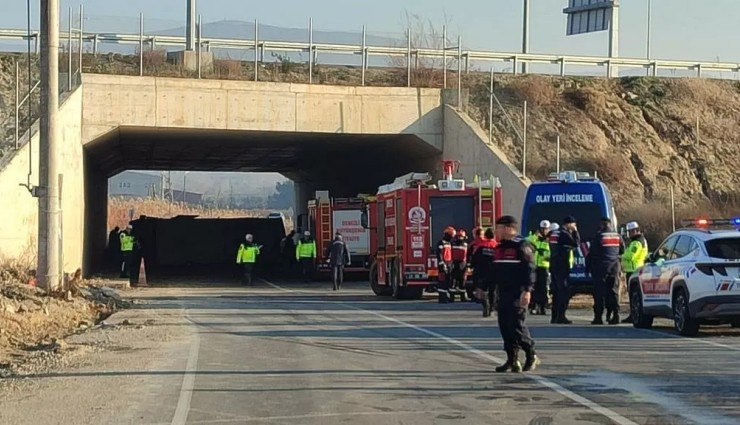
[[[283,287],[281,287],[279,285],[276,285],[276,284],[274,284],[272,282],[269,282],[267,280],[264,280],[264,282],[267,283],[268,285],[272,286],[273,288],[278,289],[278,290],[281,290],[283,292],[296,292],[296,293],[300,293],[300,291],[294,291],[294,290],[291,290],[291,289],[286,289],[286,288],[283,288]],[[471,354],[475,354],[476,356],[478,356],[480,358],[483,358],[483,359],[486,359],[486,360],[490,360],[490,361],[495,362],[495,363],[503,363],[503,360],[502,359],[499,359],[499,358],[494,357],[494,356],[492,356],[492,355],[490,355],[488,353],[485,353],[485,352],[483,352],[483,351],[481,351],[481,350],[479,350],[479,349],[477,349],[475,347],[472,347],[472,346],[470,346],[470,345],[468,345],[468,344],[466,344],[464,342],[461,342],[461,341],[458,341],[456,339],[450,338],[448,336],[442,335],[440,333],[431,331],[429,329],[425,329],[425,328],[422,328],[420,326],[412,325],[411,323],[406,323],[406,322],[404,322],[402,320],[398,320],[398,319],[395,319],[393,317],[386,316],[386,315],[384,315],[382,313],[377,313],[377,312],[374,312],[374,311],[365,310],[365,309],[362,309],[362,308],[359,308],[359,307],[355,307],[353,305],[346,304],[346,303],[343,303],[343,302],[339,302],[338,304],[342,304],[342,305],[344,305],[346,307],[349,307],[351,309],[354,309],[354,310],[357,310],[357,311],[361,311],[363,313],[367,313],[367,314],[370,314],[370,315],[373,315],[373,316],[376,316],[376,317],[380,317],[381,319],[387,320],[389,322],[396,323],[398,325],[405,326],[405,327],[410,328],[410,329],[414,329],[417,332],[421,332],[423,334],[426,334],[426,335],[429,335],[431,337],[434,337],[434,338],[440,339],[442,341],[445,341],[445,342],[447,342],[450,345],[455,345],[457,347],[460,347],[463,350],[465,350],[465,351],[467,351],[467,352],[469,352]],[[594,401],[591,401],[591,400],[589,400],[589,399],[587,399],[585,397],[582,397],[582,396],[574,393],[573,391],[570,391],[570,390],[568,390],[566,388],[563,388],[562,386],[556,384],[555,382],[550,381],[547,378],[544,378],[544,377],[539,376],[539,375],[534,375],[534,374],[524,374],[523,376],[525,376],[525,377],[527,377],[529,379],[532,379],[533,381],[539,383],[540,385],[545,386],[545,387],[547,387],[547,388],[549,388],[549,389],[557,392],[558,394],[560,394],[560,395],[562,395],[562,396],[564,396],[566,398],[569,398],[569,399],[573,400],[574,402],[576,402],[576,403],[578,403],[578,404],[580,404],[580,405],[582,405],[584,407],[587,407],[587,408],[593,410],[594,412],[596,412],[596,413],[598,413],[598,414],[600,414],[600,415],[602,415],[602,416],[610,419],[611,421],[613,421],[616,424],[619,424],[619,425],[637,425],[636,422],[633,422],[633,421],[627,419],[626,417],[620,415],[619,413],[617,413],[617,412],[615,412],[615,411],[613,411],[613,410],[611,410],[611,409],[609,409],[607,407],[604,407],[604,406],[602,406],[602,405],[600,405],[600,404],[598,404],[598,403],[596,403]]]

